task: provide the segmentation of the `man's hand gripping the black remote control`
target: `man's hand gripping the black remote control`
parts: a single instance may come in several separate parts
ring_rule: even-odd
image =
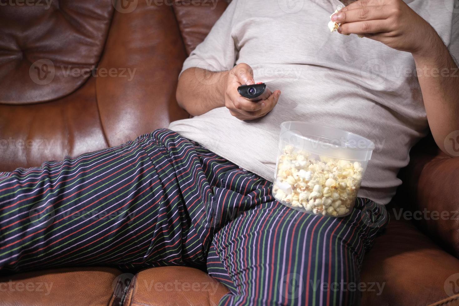
[[[234,117],[240,120],[252,120],[263,117],[277,104],[280,90],[274,90],[265,100],[251,101],[241,96],[238,87],[255,84],[252,68],[241,63],[228,72],[224,92],[225,106]]]

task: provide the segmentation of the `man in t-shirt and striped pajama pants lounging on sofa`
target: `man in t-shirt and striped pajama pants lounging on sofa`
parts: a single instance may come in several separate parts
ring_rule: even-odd
[[[221,305],[358,304],[347,284],[387,222],[409,149],[430,127],[448,153],[444,139],[459,129],[459,17],[453,0],[359,0],[332,17],[345,36],[326,27],[340,4],[233,0],[179,78],[177,100],[194,118],[1,174],[2,270],[207,264],[231,291]],[[242,98],[237,87],[255,78],[277,90]],[[274,200],[287,120],[374,140],[349,216]]]

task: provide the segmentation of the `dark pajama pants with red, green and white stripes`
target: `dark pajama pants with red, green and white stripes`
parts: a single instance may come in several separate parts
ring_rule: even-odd
[[[0,273],[207,266],[221,305],[357,305],[359,269],[387,223],[358,198],[343,218],[283,206],[271,183],[168,129],[0,172]]]

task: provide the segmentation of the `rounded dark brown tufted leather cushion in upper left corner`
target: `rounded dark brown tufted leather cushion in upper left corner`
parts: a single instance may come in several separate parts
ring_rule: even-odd
[[[0,103],[49,101],[78,89],[100,60],[113,13],[111,0],[30,2],[0,9]]]

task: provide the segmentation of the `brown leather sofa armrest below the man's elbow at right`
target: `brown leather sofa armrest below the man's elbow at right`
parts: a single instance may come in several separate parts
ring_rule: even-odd
[[[454,256],[459,257],[459,157],[444,154],[427,137],[410,154],[399,177],[396,218],[412,219]],[[398,210],[398,211],[397,211]]]

